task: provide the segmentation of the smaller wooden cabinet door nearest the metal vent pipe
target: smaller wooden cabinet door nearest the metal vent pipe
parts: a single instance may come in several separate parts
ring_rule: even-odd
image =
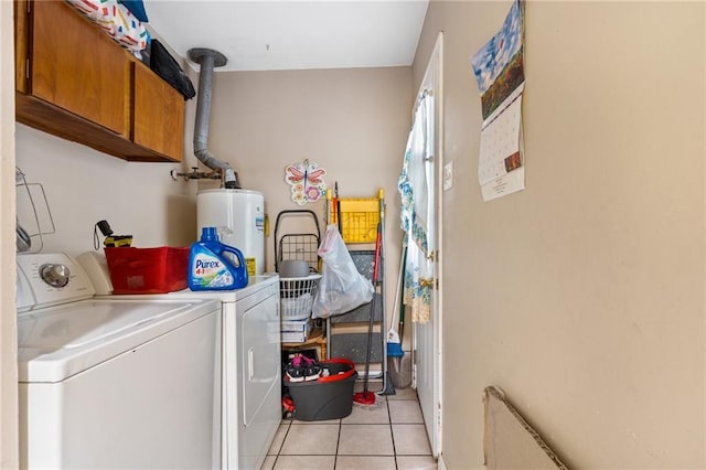
[[[136,63],[132,141],[175,161],[184,148],[184,98],[143,64]]]

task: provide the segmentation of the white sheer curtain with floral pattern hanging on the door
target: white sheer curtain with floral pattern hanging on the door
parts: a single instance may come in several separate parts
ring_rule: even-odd
[[[397,189],[402,195],[402,228],[405,231],[405,305],[411,307],[411,321],[431,319],[434,266],[429,253],[429,222],[434,164],[434,97],[424,93],[415,110],[414,124]]]

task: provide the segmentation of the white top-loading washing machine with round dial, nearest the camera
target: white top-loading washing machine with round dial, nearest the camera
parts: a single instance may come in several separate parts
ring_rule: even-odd
[[[18,255],[20,464],[220,467],[220,305],[96,299],[61,254]]]

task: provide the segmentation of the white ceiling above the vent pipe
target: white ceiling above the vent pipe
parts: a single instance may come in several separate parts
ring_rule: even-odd
[[[178,54],[210,47],[215,71],[410,65],[428,0],[146,0],[150,28]],[[192,63],[194,68],[197,68]]]

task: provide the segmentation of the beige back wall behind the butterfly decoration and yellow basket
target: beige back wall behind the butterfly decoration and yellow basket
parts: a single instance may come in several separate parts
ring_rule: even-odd
[[[274,269],[280,211],[313,210],[322,233],[325,228],[323,204],[297,205],[285,182],[288,164],[309,159],[327,170],[331,188],[339,182],[342,197],[375,197],[378,189],[385,190],[386,298],[392,308],[402,243],[396,184],[411,100],[410,67],[215,73],[210,149],[233,165],[245,189],[265,194],[267,270]],[[284,225],[279,235],[296,228]],[[313,231],[311,224],[300,229]]]

